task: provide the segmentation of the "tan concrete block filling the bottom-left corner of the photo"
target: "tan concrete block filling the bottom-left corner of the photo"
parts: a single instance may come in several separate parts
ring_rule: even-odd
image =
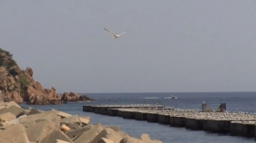
[[[30,143],[26,131],[21,124],[16,124],[0,131],[0,142],[3,143]]]

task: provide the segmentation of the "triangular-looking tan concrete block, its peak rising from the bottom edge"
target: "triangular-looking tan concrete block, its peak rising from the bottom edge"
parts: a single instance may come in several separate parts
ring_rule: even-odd
[[[50,142],[55,143],[57,139],[73,143],[73,141],[70,138],[68,138],[67,135],[65,135],[59,129],[54,129],[53,131],[51,131],[39,143],[50,143]]]

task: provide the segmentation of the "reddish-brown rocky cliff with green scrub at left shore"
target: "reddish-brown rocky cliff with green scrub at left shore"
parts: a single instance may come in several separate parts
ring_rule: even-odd
[[[29,67],[22,71],[10,52],[0,48],[0,101],[15,101],[28,104],[58,104],[61,96],[56,89],[44,89],[33,79],[33,70]]]

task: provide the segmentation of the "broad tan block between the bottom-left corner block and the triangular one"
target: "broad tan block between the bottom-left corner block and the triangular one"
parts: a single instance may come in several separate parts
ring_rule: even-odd
[[[50,120],[40,121],[29,128],[26,128],[26,136],[29,141],[41,141],[46,135],[55,129],[55,124]]]

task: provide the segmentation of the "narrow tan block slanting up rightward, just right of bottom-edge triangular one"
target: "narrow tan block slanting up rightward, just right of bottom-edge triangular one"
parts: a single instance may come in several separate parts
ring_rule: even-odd
[[[94,138],[97,137],[98,133],[103,130],[104,127],[101,124],[96,124],[91,127],[91,129],[83,132],[76,140],[75,143],[85,143],[91,142]]]

